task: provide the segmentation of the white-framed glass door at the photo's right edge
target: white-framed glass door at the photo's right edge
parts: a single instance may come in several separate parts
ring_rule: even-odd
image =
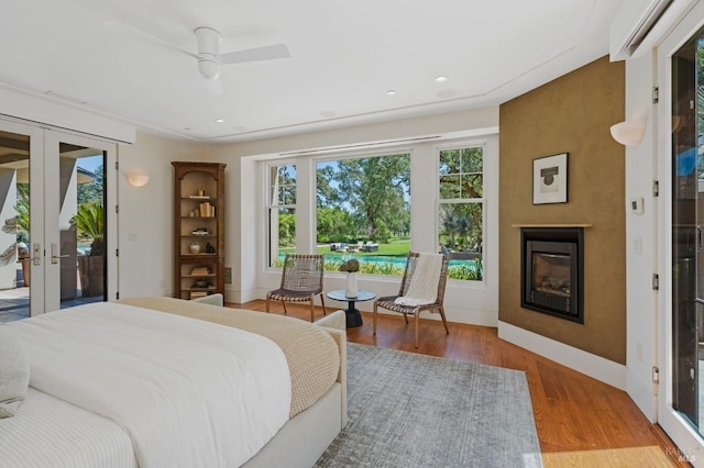
[[[658,47],[658,171],[668,190],[659,264],[658,423],[678,457],[704,466],[704,4]]]

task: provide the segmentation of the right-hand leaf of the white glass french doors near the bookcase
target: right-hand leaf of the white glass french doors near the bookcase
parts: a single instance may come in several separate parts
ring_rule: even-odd
[[[109,146],[46,135],[47,310],[107,300],[106,185]]]

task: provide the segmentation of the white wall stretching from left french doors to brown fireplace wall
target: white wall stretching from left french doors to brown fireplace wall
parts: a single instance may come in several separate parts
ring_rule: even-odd
[[[337,145],[388,141],[428,134],[463,132],[468,137],[495,133],[498,125],[498,108],[453,112],[435,116],[394,121],[374,125],[360,125],[306,135],[282,138],[206,146],[165,140],[160,136],[138,133],[133,145],[120,145],[120,297],[142,294],[170,296],[173,293],[173,168],[172,160],[207,160],[227,164],[226,169],[226,266],[232,268],[232,285],[226,286],[226,299],[246,302],[264,298],[267,290],[276,287],[278,272],[265,271],[262,252],[262,211],[257,201],[262,199],[257,158],[275,157],[279,153],[319,148]],[[486,140],[486,138],[484,138]],[[498,143],[494,134],[488,138],[487,164],[498,164]],[[430,146],[428,146],[430,148]],[[429,149],[430,151],[430,149]],[[435,160],[418,155],[417,161]],[[140,169],[150,176],[145,187],[134,188],[124,179],[131,169]],[[436,168],[432,168],[435,180]],[[496,166],[495,172],[498,172]],[[486,182],[490,185],[490,181]],[[497,187],[498,181],[495,181]],[[415,183],[418,189],[422,181]],[[422,197],[426,199],[427,197]],[[421,199],[420,197],[414,198]],[[435,194],[430,198],[435,203]],[[487,215],[493,219],[498,212],[498,200],[491,198]],[[493,221],[490,221],[493,222]],[[497,222],[497,221],[496,221]],[[430,229],[435,223],[429,223]],[[494,227],[495,230],[496,227]],[[431,233],[435,244],[435,233]],[[486,242],[492,242],[487,237]],[[497,246],[494,249],[497,250]],[[490,249],[491,252],[491,249]],[[448,319],[457,322],[495,326],[498,296],[496,270],[491,264],[498,258],[487,258],[485,286],[458,287],[448,285]],[[493,275],[493,276],[492,276]],[[343,287],[342,274],[328,274],[326,290]],[[360,287],[380,293],[397,290],[397,280],[375,277],[361,279]],[[370,303],[371,304],[371,303]],[[470,305],[468,305],[470,304]],[[329,304],[340,305],[340,304]]]

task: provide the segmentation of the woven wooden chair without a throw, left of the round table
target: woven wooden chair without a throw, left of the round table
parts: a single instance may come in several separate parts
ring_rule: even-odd
[[[324,274],[323,255],[286,254],[282,285],[266,293],[266,312],[270,301],[282,301],[284,314],[288,314],[286,302],[310,302],[310,321],[314,321],[314,298],[320,294],[322,314],[326,315],[326,302],[322,298],[322,278]]]

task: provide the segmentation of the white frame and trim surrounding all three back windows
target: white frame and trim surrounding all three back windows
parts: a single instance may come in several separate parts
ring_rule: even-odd
[[[473,132],[471,132],[473,133]],[[498,271],[498,132],[477,132],[464,137],[448,137],[433,141],[403,142],[399,144],[386,145],[360,145],[362,147],[326,148],[320,151],[307,151],[301,153],[270,154],[258,159],[261,177],[258,183],[266,182],[261,187],[260,200],[265,209],[271,208],[268,200],[271,166],[295,165],[297,170],[297,203],[296,203],[296,250],[300,253],[316,252],[316,168],[319,161],[333,161],[344,158],[366,158],[386,156],[389,154],[410,155],[410,237],[413,252],[436,252],[439,239],[439,155],[441,149],[452,149],[458,147],[483,147],[483,198],[482,200],[482,232],[483,232],[483,278],[477,280],[454,280],[449,279],[448,291],[450,297],[455,288],[458,290],[472,290],[471,294],[481,296],[481,302],[493,303],[494,297],[488,299],[485,294],[492,294],[496,290],[496,275]],[[435,171],[435,176],[430,176]],[[310,187],[302,187],[308,183]],[[495,186],[495,187],[494,187]],[[447,201],[447,200],[443,200]],[[491,213],[487,212],[491,210]],[[265,211],[261,211],[263,214]],[[432,227],[427,220],[433,216]],[[265,236],[260,237],[262,270],[261,272],[280,272],[280,268],[268,266],[270,254],[265,245],[268,236],[268,219],[262,220],[262,230]],[[492,232],[488,232],[488,226]],[[330,285],[337,286],[342,274],[337,271],[326,271]],[[377,281],[377,287],[385,290],[388,286],[397,283],[398,278],[388,275],[365,275],[369,280]],[[334,288],[334,286],[332,286]]]

